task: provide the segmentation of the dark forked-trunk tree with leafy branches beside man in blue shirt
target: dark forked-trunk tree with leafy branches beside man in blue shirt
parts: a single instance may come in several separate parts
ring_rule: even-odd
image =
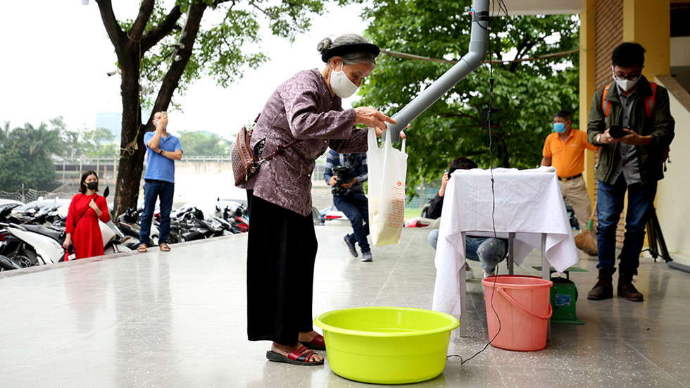
[[[153,113],[167,111],[175,92],[184,92],[192,80],[211,75],[227,85],[242,76],[243,66],[256,68],[265,61],[254,49],[261,41],[260,20],[268,21],[274,35],[294,39],[310,25],[311,14],[323,11],[318,0],[142,0],[134,19],[118,22],[112,0],[96,2],[122,75],[123,151],[115,214],[139,192],[144,132],[153,130]],[[142,101],[142,87],[158,92],[151,101]],[[149,118],[142,118],[142,102],[152,108]]]

